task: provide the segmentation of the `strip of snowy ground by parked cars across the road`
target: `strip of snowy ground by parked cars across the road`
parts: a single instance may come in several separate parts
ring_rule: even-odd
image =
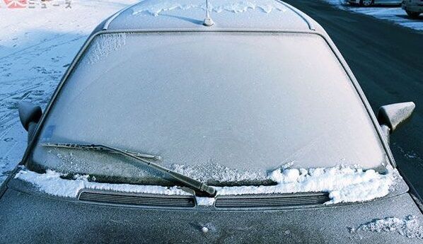
[[[375,18],[381,18],[386,21],[393,22],[398,25],[412,28],[415,30],[423,30],[423,15],[413,20],[408,18],[407,13],[400,6],[373,6],[365,8],[361,6],[351,6],[346,4],[344,0],[323,0],[329,4],[333,4],[345,11],[366,14]]]

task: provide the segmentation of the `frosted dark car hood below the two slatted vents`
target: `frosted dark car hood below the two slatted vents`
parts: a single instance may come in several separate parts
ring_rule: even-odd
[[[9,185],[13,186],[13,183]],[[4,243],[422,241],[402,236],[398,230],[373,232],[359,229],[359,226],[387,217],[405,219],[415,216],[422,223],[422,213],[407,193],[359,204],[228,211],[212,207],[153,209],[91,204],[9,187],[0,199],[0,209],[0,242]]]

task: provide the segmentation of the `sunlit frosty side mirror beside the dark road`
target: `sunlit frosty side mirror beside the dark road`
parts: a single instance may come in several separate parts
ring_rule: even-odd
[[[378,110],[378,122],[381,126],[386,125],[392,133],[398,125],[412,115],[415,108],[416,105],[413,102],[384,105]]]

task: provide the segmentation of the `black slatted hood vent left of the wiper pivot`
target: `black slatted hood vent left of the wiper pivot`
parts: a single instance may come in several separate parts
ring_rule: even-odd
[[[81,192],[79,200],[146,207],[195,207],[194,197],[179,195]]]

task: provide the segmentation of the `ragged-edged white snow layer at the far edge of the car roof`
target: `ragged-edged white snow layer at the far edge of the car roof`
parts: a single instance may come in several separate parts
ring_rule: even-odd
[[[187,10],[190,8],[206,9],[206,1],[193,0],[146,0],[134,7],[133,14],[147,13],[153,16],[158,16],[163,11],[172,11],[175,9]],[[221,13],[228,11],[232,13],[243,13],[246,11],[255,11],[256,9],[264,13],[272,11],[286,11],[286,8],[277,1],[272,0],[248,0],[248,1],[228,1],[228,0],[213,0],[209,1],[209,11]]]

